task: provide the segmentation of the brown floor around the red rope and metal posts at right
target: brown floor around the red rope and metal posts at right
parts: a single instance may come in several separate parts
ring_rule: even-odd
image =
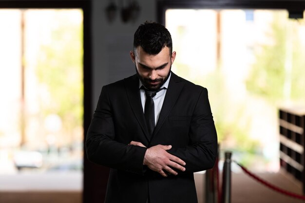
[[[285,171],[258,173],[260,178],[289,192],[302,195],[302,185]],[[305,203],[273,191],[249,177],[244,172],[232,173],[231,203]],[[198,203],[204,203],[205,175],[195,173]]]

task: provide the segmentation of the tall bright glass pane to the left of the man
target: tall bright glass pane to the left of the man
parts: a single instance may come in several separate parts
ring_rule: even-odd
[[[0,175],[75,172],[81,187],[82,10],[0,9],[0,27]]]

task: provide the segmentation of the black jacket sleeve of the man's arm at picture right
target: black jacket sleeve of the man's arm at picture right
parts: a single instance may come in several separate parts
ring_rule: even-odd
[[[185,172],[210,169],[217,157],[217,134],[214,126],[208,91],[203,88],[191,117],[189,145],[172,148],[169,152],[186,162]]]

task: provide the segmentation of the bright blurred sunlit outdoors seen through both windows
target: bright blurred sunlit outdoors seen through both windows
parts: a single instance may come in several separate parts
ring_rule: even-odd
[[[0,175],[69,172],[81,185],[82,11],[0,9],[0,27]],[[279,108],[305,104],[305,20],[170,9],[166,27],[172,71],[209,90],[221,150],[251,170],[279,170]]]

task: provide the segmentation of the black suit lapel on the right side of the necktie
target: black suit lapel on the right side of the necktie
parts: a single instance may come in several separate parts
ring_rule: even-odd
[[[178,96],[184,86],[184,82],[178,77],[176,74],[172,73],[168,90],[166,92],[164,102],[162,105],[162,109],[159,115],[159,119],[157,125],[153,131],[153,135],[158,133],[159,129],[161,128],[162,124],[164,123],[165,119],[169,115],[172,107],[174,106]]]

